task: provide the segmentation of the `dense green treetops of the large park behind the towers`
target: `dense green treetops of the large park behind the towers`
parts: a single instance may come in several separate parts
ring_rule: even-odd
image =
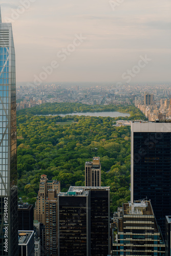
[[[74,109],[76,105],[81,108],[82,104],[55,103],[51,108],[63,109],[63,113],[67,113],[68,105],[72,111],[80,111]],[[101,108],[103,106],[100,105],[96,111],[102,111]],[[111,105],[112,108],[115,106]],[[117,111],[123,108],[130,113],[131,119],[144,118],[133,105],[117,108]],[[70,185],[84,185],[85,162],[99,156],[102,186],[110,186],[111,211],[130,200],[130,126],[113,126],[115,120],[121,118],[35,116],[40,114],[34,113],[37,109],[17,112],[19,196],[33,203],[41,174],[60,180],[62,191],[67,191]],[[40,109],[44,114],[49,113],[45,105]]]

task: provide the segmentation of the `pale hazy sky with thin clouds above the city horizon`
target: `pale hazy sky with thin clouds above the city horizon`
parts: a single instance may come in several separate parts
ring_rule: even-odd
[[[171,0],[2,0],[17,82],[170,82]]]

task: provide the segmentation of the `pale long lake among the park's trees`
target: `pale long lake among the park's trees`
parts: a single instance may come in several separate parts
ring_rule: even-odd
[[[130,114],[127,113],[120,113],[120,112],[116,112],[116,111],[109,111],[109,112],[86,112],[86,113],[82,113],[82,112],[76,112],[76,113],[69,113],[69,114],[58,114],[58,115],[49,115],[49,116],[61,116],[61,117],[65,117],[65,116],[102,116],[102,117],[129,117]]]

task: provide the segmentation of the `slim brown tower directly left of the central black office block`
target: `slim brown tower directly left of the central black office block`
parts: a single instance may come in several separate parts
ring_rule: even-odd
[[[57,194],[48,190],[46,199],[46,255],[57,255]]]

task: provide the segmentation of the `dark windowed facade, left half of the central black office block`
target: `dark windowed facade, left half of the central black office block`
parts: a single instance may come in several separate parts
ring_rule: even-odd
[[[59,196],[58,247],[61,256],[87,256],[87,196]]]

